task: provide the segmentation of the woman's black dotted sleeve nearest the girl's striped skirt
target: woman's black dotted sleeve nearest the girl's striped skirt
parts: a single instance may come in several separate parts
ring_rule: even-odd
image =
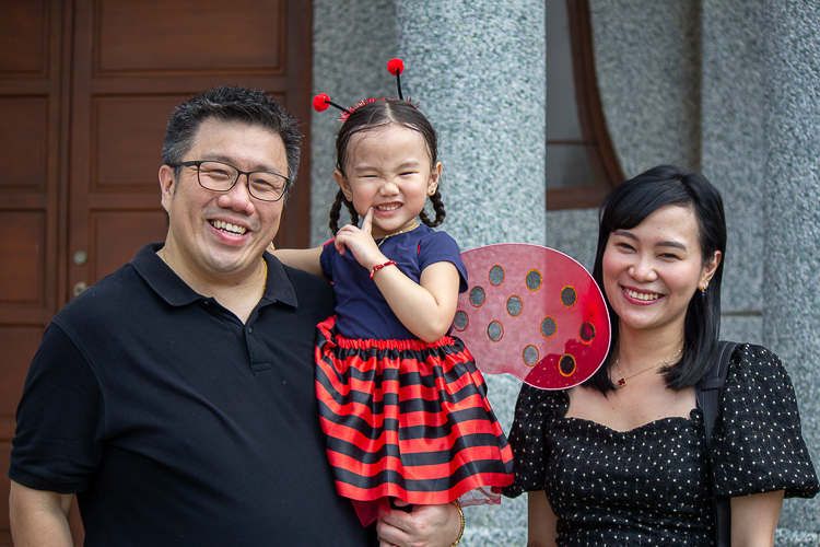
[[[547,433],[552,419],[565,412],[564,392],[538,389],[524,384],[515,405],[515,419],[507,440],[513,449],[514,479],[504,487],[507,498],[544,489],[544,468],[550,456]]]

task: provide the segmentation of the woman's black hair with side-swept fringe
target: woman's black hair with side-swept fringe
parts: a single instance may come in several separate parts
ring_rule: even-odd
[[[726,260],[726,218],[723,199],[717,188],[702,174],[675,165],[658,165],[614,188],[598,211],[598,248],[593,277],[607,301],[612,341],[604,365],[585,385],[604,394],[616,388],[609,371],[619,336],[618,316],[612,311],[604,289],[602,260],[609,234],[616,230],[635,228],[654,211],[668,205],[691,208],[694,212],[703,264],[712,260],[717,251],[723,255],[723,259],[708,283],[706,294],[701,295],[699,290],[689,301],[683,326],[683,351],[677,363],[663,369],[666,385],[671,389],[694,385],[716,359],[721,329],[721,280]]]

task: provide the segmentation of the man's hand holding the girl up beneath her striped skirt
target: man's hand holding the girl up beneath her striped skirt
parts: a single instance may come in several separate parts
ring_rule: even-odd
[[[395,500],[397,507],[407,507]],[[379,547],[449,547],[461,529],[461,517],[452,503],[413,505],[409,513],[390,509],[376,524]]]

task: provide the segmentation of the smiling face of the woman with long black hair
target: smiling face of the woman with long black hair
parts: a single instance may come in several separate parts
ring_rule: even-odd
[[[609,234],[604,289],[622,329],[672,328],[683,334],[689,301],[705,287],[721,252],[704,264],[692,209],[653,211],[639,225]]]

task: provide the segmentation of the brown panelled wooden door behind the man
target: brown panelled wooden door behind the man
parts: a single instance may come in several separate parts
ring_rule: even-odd
[[[301,0],[0,2],[0,545],[11,545],[14,411],[48,322],[164,238],[156,173],[176,104],[219,84],[256,86],[307,131],[311,10]],[[279,245],[308,244],[308,166],[306,139]]]

